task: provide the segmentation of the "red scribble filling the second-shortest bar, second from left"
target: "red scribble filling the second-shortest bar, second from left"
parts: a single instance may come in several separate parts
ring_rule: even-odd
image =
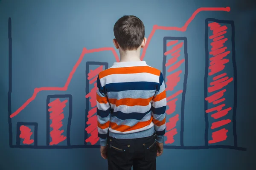
[[[63,102],[60,99],[55,99],[54,101],[50,102],[48,106],[50,107],[48,111],[50,112],[50,120],[52,123],[50,127],[52,127],[52,131],[50,132],[50,136],[52,141],[50,145],[58,144],[67,139],[66,136],[61,135],[64,130],[59,130],[62,125],[62,120],[64,119],[63,109],[66,107],[66,103],[68,100],[64,100]]]

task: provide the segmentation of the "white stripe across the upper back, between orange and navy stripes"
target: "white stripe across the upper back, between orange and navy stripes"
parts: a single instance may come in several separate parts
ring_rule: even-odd
[[[134,73],[134,74],[110,74],[103,77],[105,81],[101,81],[102,87],[110,83],[118,82],[156,82],[159,83],[159,76],[150,73]]]

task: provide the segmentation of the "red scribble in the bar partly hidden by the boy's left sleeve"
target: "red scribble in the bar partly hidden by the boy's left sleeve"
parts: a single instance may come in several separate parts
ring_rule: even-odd
[[[88,127],[85,128],[87,134],[90,134],[90,136],[85,140],[85,142],[90,142],[92,145],[96,144],[99,141],[98,137],[98,124],[97,124],[97,115],[95,114],[97,112],[96,107],[96,90],[97,90],[97,77],[98,74],[103,70],[103,65],[99,66],[95,70],[90,70],[88,73],[88,80],[90,84],[93,84],[92,90],[85,96],[86,98],[90,98],[90,111],[88,111],[87,114],[87,122],[86,124]]]

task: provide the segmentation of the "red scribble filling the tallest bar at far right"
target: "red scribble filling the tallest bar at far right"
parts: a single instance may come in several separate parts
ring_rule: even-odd
[[[211,107],[206,110],[206,113],[211,114],[213,119],[218,119],[212,122],[211,129],[223,127],[231,122],[230,119],[224,119],[224,116],[228,115],[231,107],[226,108],[227,99],[229,96],[225,95],[227,91],[227,85],[233,82],[233,77],[225,72],[225,67],[230,62],[230,51],[227,48],[227,32],[228,27],[220,23],[212,22],[208,24],[210,29],[209,39],[211,48],[209,51],[209,70],[208,75],[212,79],[208,82],[208,97],[205,98],[208,103],[211,103]],[[208,80],[209,81],[209,80]],[[210,106],[208,104],[208,106]],[[225,141],[227,139],[227,132],[225,128],[212,132],[212,140],[209,140],[209,144]]]

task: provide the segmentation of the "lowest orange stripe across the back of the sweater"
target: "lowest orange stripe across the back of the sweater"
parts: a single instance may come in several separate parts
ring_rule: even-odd
[[[130,130],[136,130],[136,129],[140,129],[142,127],[145,127],[145,126],[148,126],[150,125],[150,123],[152,122],[153,120],[153,117],[151,116],[151,119],[149,119],[148,121],[145,121],[145,122],[138,122],[136,125],[134,126],[128,126],[128,125],[117,125],[116,123],[113,123],[111,122],[110,123],[110,127],[113,129],[113,130],[117,130],[117,131],[120,131],[120,132],[127,132],[127,131],[130,131]]]

